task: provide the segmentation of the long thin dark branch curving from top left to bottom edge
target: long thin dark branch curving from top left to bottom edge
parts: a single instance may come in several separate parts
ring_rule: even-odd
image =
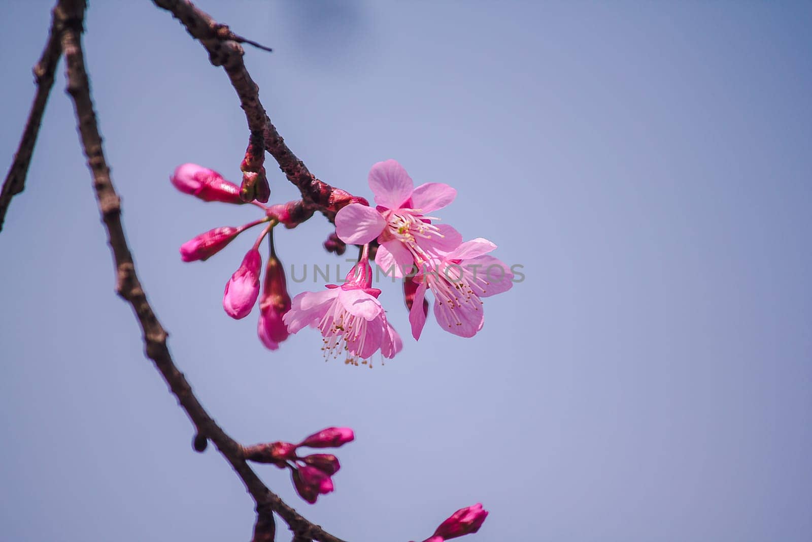
[[[231,464],[240,477],[248,493],[253,497],[257,509],[257,523],[254,527],[254,542],[267,542],[274,537],[273,513],[279,514],[287,522],[291,531],[300,537],[319,542],[343,542],[314,525],[285,504],[271,492],[248,466],[244,448],[227,435],[201,405],[192,392],[184,374],[172,360],[166,345],[166,330],[158,321],[136,275],[136,269],[124,236],[121,223],[121,202],[110,180],[102,150],[102,137],[99,135],[96,113],[90,95],[89,80],[84,67],[84,54],[81,48],[81,33],[84,21],[84,0],[63,0],[60,2],[69,16],[62,33],[61,46],[67,63],[67,93],[71,96],[76,111],[80,140],[88,167],[93,175],[93,188],[96,191],[99,211],[107,230],[107,241],[113,253],[116,271],[116,292],[123,297],[136,314],[144,334],[145,353],[161,373],[171,392],[177,397],[180,406],[197,428],[194,446],[197,451],[205,449],[205,440],[211,440],[218,451]]]

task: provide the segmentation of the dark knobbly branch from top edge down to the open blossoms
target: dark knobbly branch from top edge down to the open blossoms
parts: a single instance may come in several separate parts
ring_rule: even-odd
[[[153,0],[153,3],[170,11],[184,24],[188,33],[200,41],[209,52],[209,62],[213,66],[222,66],[226,70],[231,86],[234,87],[240,98],[240,105],[245,111],[252,138],[257,138],[257,132],[261,132],[265,149],[279,164],[279,169],[283,171],[287,180],[299,189],[304,202],[312,205],[315,210],[322,211],[331,222],[335,217],[335,211],[342,206],[351,202],[367,203],[362,197],[353,197],[342,189],[335,189],[330,184],[318,180],[287,147],[260,102],[259,88],[248,74],[243,62],[244,50],[237,43],[235,35],[228,30],[227,25],[219,24],[188,0]]]

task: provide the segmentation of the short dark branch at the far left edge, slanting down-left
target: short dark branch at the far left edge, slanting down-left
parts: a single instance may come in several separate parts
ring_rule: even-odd
[[[6,210],[11,204],[11,198],[25,189],[25,177],[28,176],[28,165],[31,163],[34,145],[37,144],[42,115],[45,113],[45,105],[48,103],[50,90],[54,86],[54,72],[56,72],[56,66],[61,56],[59,35],[66,17],[62,9],[62,3],[58,2],[51,12],[48,41],[45,42],[45,49],[42,51],[39,61],[34,64],[33,72],[34,81],[37,84],[37,93],[34,94],[34,101],[31,104],[31,111],[28,113],[28,121],[25,124],[23,136],[19,140],[19,147],[14,155],[14,161],[9,167],[6,180],[2,184],[2,190],[0,190],[0,231],[2,231],[3,220],[6,218]]]

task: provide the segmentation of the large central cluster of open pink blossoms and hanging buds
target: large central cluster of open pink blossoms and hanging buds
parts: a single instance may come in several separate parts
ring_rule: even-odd
[[[180,191],[206,202],[246,203],[235,184],[195,164],[179,166],[171,181]],[[364,198],[339,189],[330,197],[328,211],[335,213],[335,232],[325,248],[338,254],[345,245],[359,245],[361,249],[343,284],[326,284],[321,292],[303,292],[292,299],[287,293],[283,266],[274,252],[273,229],[279,223],[293,228],[309,218],[313,209],[305,202],[272,206],[257,200],[248,202],[264,211],[261,219],[239,228],[205,232],[180,247],[181,258],[184,262],[205,260],[248,228],[263,225],[257,241],[228,280],[222,306],[231,318],[243,319],[259,300],[257,335],[269,349],[278,349],[289,335],[313,327],[321,332],[326,358],[341,355],[357,365],[359,359],[366,362],[375,353],[393,358],[400,352],[403,341],[379,301],[381,290],[372,285],[370,247],[377,248],[374,261],[378,267],[403,280],[404,303],[415,340],[420,339],[428,319],[428,291],[434,296],[434,319],[443,330],[462,337],[476,335],[485,323],[482,299],[511,288],[513,273],[490,255],[496,249],[494,243],[482,237],[463,241],[460,232],[438,223],[438,217],[433,216],[454,201],[456,190],[443,183],[415,187],[395,160],[374,164],[369,171],[369,188],[374,193],[374,207]],[[270,249],[261,281],[259,248],[266,236]]]

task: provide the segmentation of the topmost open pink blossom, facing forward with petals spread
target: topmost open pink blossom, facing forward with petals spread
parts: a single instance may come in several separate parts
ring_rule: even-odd
[[[376,163],[369,171],[369,188],[375,194],[376,209],[351,203],[335,215],[335,232],[348,244],[363,244],[378,238],[375,261],[384,269],[394,266],[395,276],[412,262],[428,259],[438,250],[451,250],[462,241],[453,228],[445,232],[431,223],[428,213],[443,209],[456,197],[456,190],[443,183],[414,187],[412,178],[395,160]]]

